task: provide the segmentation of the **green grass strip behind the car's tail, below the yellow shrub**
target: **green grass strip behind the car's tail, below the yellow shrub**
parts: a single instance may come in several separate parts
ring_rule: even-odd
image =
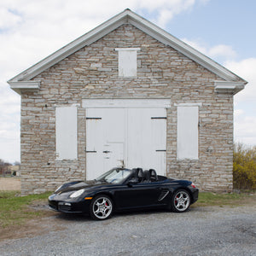
[[[195,202],[195,207],[239,207],[251,203],[256,204],[256,194],[217,194],[201,192],[199,193],[198,201]]]

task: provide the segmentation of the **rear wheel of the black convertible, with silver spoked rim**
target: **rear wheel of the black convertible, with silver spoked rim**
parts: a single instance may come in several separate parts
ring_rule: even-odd
[[[186,212],[189,209],[191,198],[189,192],[185,189],[178,189],[172,195],[172,212]]]

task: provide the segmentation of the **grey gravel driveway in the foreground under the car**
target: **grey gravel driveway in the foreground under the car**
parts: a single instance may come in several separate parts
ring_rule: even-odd
[[[55,230],[0,241],[0,254],[256,255],[256,204],[124,213],[102,222],[56,213],[44,224]]]

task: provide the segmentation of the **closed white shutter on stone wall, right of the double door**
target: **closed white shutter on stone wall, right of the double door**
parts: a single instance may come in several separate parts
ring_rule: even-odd
[[[177,107],[177,160],[198,159],[198,106]]]

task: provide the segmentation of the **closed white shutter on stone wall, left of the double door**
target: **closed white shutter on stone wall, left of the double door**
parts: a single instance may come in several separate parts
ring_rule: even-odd
[[[77,123],[76,107],[56,108],[56,160],[76,160],[78,158]]]

